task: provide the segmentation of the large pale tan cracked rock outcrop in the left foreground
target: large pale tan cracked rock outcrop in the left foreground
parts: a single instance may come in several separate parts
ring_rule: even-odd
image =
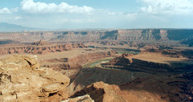
[[[70,79],[63,74],[39,68],[37,56],[15,55],[0,60],[0,101],[59,101],[65,97]]]

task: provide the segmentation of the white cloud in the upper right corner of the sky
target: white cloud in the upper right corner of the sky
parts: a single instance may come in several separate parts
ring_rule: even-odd
[[[142,0],[142,11],[152,14],[192,14],[193,0]]]

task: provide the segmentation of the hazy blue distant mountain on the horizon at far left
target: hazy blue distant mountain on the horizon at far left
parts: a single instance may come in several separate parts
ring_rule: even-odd
[[[16,24],[0,23],[0,32],[34,31],[36,28],[24,27]]]

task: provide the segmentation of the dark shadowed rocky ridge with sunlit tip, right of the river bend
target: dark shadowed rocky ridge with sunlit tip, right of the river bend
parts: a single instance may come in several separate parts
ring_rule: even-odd
[[[165,63],[155,63],[150,61],[145,61],[136,58],[128,58],[127,55],[123,54],[120,57],[115,57],[108,63],[101,64],[104,68],[114,68],[114,69],[125,69],[125,70],[136,70],[143,72],[167,72],[172,69],[169,64]]]

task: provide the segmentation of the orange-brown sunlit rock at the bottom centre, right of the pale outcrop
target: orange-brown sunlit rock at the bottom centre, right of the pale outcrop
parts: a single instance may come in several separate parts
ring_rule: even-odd
[[[118,85],[109,85],[103,82],[93,83],[75,93],[72,97],[85,94],[89,94],[95,102],[167,102],[161,99],[159,95],[150,92],[124,91]]]

